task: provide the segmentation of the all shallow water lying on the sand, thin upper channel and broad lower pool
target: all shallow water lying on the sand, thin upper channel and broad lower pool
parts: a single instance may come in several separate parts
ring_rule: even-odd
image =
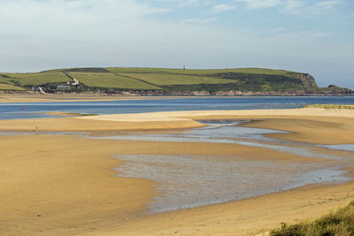
[[[267,138],[280,131],[242,127],[240,121],[204,121],[208,126],[173,133],[123,133],[94,139],[132,141],[181,141],[235,143],[309,158],[309,162],[244,160],[235,156],[117,155],[124,164],[117,176],[151,179],[158,196],[151,199],[151,212],[186,209],[284,191],[313,183],[349,180],[341,168],[347,157],[315,151],[319,146]],[[329,147],[325,147],[329,148]],[[341,148],[335,147],[335,148]],[[347,146],[345,146],[347,148]],[[343,148],[343,152],[351,153]],[[353,153],[354,156],[354,153]],[[311,158],[326,158],[322,164]]]

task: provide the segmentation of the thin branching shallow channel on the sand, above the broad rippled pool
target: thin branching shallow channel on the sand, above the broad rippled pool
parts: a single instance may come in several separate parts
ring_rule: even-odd
[[[285,133],[272,129],[260,129],[238,126],[244,122],[224,121],[222,123],[208,123],[208,126],[190,129],[180,133],[122,133],[119,135],[91,137],[104,140],[130,140],[130,141],[179,141],[179,142],[214,142],[235,143],[244,146],[271,148],[277,151],[305,157],[319,157],[326,159],[341,159],[339,156],[326,155],[312,151],[310,145],[290,145],[291,142],[278,141],[266,137],[266,133]]]

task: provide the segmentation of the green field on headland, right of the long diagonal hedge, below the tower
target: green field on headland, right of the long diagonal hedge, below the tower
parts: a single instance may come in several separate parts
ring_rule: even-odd
[[[226,84],[235,80],[169,73],[120,73],[155,85]]]

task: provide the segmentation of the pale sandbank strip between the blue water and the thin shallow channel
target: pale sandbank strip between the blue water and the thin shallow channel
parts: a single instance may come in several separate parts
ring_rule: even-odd
[[[9,119],[0,120],[0,131],[137,132],[173,130],[202,127],[204,124],[199,123],[198,120],[203,119],[251,119],[253,122],[242,126],[286,131],[288,133],[266,135],[289,141],[335,145],[350,144],[354,140],[354,110],[325,110],[320,108],[189,110],[73,118]],[[299,129],[304,132],[297,132]],[[332,133],[335,133],[335,136]]]

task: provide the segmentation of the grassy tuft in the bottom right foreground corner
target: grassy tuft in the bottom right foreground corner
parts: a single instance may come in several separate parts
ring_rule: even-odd
[[[354,235],[354,202],[320,217],[312,223],[286,225],[270,232],[271,236],[349,236]]]

